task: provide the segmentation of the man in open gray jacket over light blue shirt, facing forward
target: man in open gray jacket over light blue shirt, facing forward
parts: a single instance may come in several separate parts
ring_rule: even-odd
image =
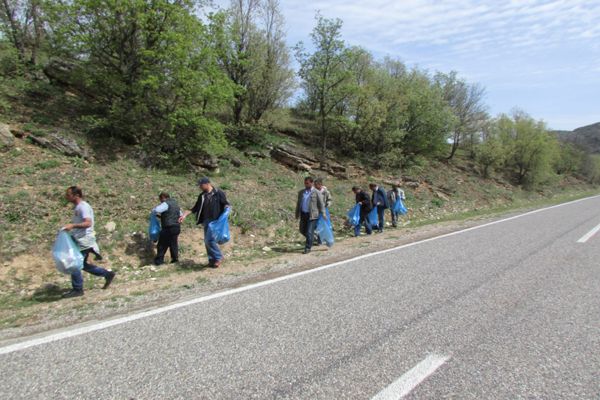
[[[304,179],[304,189],[298,192],[296,219],[300,219],[300,233],[306,238],[304,254],[310,253],[319,215],[327,220],[325,202],[321,193],[313,187],[312,177]]]

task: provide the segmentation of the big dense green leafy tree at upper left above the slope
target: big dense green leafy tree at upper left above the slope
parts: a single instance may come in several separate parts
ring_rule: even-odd
[[[196,6],[191,0],[73,0],[56,6],[54,44],[75,61],[97,106],[101,132],[171,159],[225,146],[211,113],[231,99],[232,86]]]

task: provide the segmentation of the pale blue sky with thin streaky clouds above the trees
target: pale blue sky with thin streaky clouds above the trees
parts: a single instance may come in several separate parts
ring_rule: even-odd
[[[228,5],[229,1],[217,1]],[[492,115],[519,108],[551,129],[600,122],[600,0],[280,0],[287,42],[310,42],[315,13],[382,59],[457,71]]]

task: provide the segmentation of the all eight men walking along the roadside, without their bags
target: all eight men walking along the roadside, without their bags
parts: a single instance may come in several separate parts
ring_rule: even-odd
[[[154,264],[161,265],[165,262],[167,250],[170,251],[172,263],[179,261],[178,238],[181,233],[181,223],[190,214],[195,214],[197,225],[203,225],[208,265],[212,268],[218,268],[222,264],[223,253],[216,239],[208,230],[210,223],[217,220],[225,209],[230,207],[230,203],[225,192],[213,186],[209,178],[204,177],[198,180],[198,186],[200,194],[194,206],[187,211],[182,211],[177,201],[168,192],[159,194],[160,204],[152,209],[152,213],[160,218],[161,224]],[[385,210],[390,208],[390,205],[394,204],[397,199],[404,200],[404,191],[396,185],[387,193],[383,187],[375,183],[370,184],[369,188],[372,191],[370,196],[358,186],[352,188],[356,203],[361,205],[360,221],[354,226],[355,236],[360,235],[361,226],[365,227],[367,235],[370,235],[373,229],[383,232]],[[89,262],[90,255],[94,255],[97,260],[101,259],[94,231],[94,211],[83,199],[83,190],[78,186],[67,188],[65,198],[73,204],[73,218],[71,223],[65,225],[62,229],[69,232],[77,243],[83,256],[83,271],[103,277],[104,286],[102,288],[106,289],[112,283],[116,273]],[[323,185],[322,179],[313,179],[312,177],[304,179],[304,189],[298,192],[295,213],[296,219],[300,221],[300,233],[306,238],[304,254],[310,253],[315,242],[317,245],[322,243],[322,238],[315,233],[315,228],[319,217],[331,224],[328,209],[331,207],[332,202],[331,192]],[[372,226],[367,216],[374,207],[377,208],[378,224]],[[391,217],[392,225],[396,226],[398,215],[393,209],[391,209]],[[71,273],[71,285],[72,289],[65,293],[63,297],[83,295],[81,270]]]

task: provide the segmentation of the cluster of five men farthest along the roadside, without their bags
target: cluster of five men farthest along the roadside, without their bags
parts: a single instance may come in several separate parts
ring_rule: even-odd
[[[365,227],[367,235],[376,229],[377,232],[383,232],[385,226],[385,210],[390,209],[392,217],[392,226],[398,224],[398,213],[394,211],[392,205],[398,199],[404,201],[405,194],[398,185],[392,185],[392,189],[388,192],[376,184],[369,184],[371,195],[365,192],[359,186],[354,186],[352,192],[355,195],[356,204],[360,204],[360,221],[354,225],[354,236],[360,236],[361,227]],[[310,253],[313,244],[316,240],[317,245],[321,244],[318,235],[315,234],[315,227],[319,217],[327,221],[329,212],[327,211],[333,202],[331,192],[323,185],[323,180],[320,178],[313,179],[308,176],[304,178],[304,189],[298,192],[298,200],[296,202],[296,219],[300,220],[300,233],[306,238],[304,245],[304,254]],[[373,226],[369,221],[368,215],[377,209],[378,223]]]

